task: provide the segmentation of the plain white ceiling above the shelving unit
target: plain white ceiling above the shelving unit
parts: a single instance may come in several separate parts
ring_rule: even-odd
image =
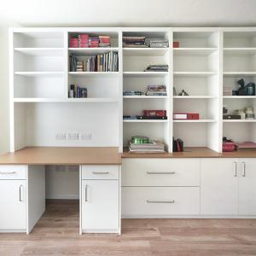
[[[0,24],[256,26],[256,0],[1,0]]]

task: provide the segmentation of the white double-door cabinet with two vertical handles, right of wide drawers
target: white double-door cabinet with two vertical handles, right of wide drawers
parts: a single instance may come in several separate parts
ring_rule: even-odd
[[[201,214],[255,215],[255,188],[255,159],[201,160]]]

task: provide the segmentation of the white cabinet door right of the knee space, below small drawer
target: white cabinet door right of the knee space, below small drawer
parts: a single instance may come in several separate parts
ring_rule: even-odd
[[[82,230],[119,230],[119,181],[82,181]]]

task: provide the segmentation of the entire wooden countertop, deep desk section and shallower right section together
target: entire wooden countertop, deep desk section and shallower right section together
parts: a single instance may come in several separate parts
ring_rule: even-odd
[[[185,148],[164,154],[120,154],[118,148],[27,147],[0,155],[0,165],[121,165],[122,158],[256,158],[256,151],[217,153],[209,148]]]

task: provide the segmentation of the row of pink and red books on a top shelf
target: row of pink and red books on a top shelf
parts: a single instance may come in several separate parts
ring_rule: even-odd
[[[89,34],[79,34],[78,37],[69,39],[69,47],[71,48],[97,48],[110,46],[110,38],[108,36],[89,37]]]

